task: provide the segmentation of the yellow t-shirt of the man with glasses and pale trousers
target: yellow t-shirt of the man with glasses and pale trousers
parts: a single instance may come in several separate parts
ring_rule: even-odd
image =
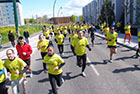
[[[24,77],[24,74],[17,75],[16,71],[21,71],[27,64],[20,58],[15,58],[13,61],[5,60],[4,66],[11,72],[11,80],[17,80]]]

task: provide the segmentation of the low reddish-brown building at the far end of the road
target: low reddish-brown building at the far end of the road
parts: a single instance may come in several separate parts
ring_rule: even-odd
[[[49,22],[53,23],[53,18],[50,18]],[[55,24],[65,24],[70,22],[70,17],[55,17]]]

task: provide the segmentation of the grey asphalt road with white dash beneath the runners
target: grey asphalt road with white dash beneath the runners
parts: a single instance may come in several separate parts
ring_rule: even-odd
[[[42,70],[40,51],[36,49],[37,41],[34,39],[32,45],[33,77],[28,78],[26,94],[52,94],[48,75]],[[55,52],[58,53],[57,46],[54,45]],[[76,57],[70,50],[68,37],[64,45],[65,82],[58,87],[59,94],[140,94],[140,62],[134,58],[134,50],[118,45],[118,52],[113,56],[113,63],[110,63],[106,41],[96,37],[92,51],[87,49],[87,76],[82,77],[81,68],[76,66]]]

